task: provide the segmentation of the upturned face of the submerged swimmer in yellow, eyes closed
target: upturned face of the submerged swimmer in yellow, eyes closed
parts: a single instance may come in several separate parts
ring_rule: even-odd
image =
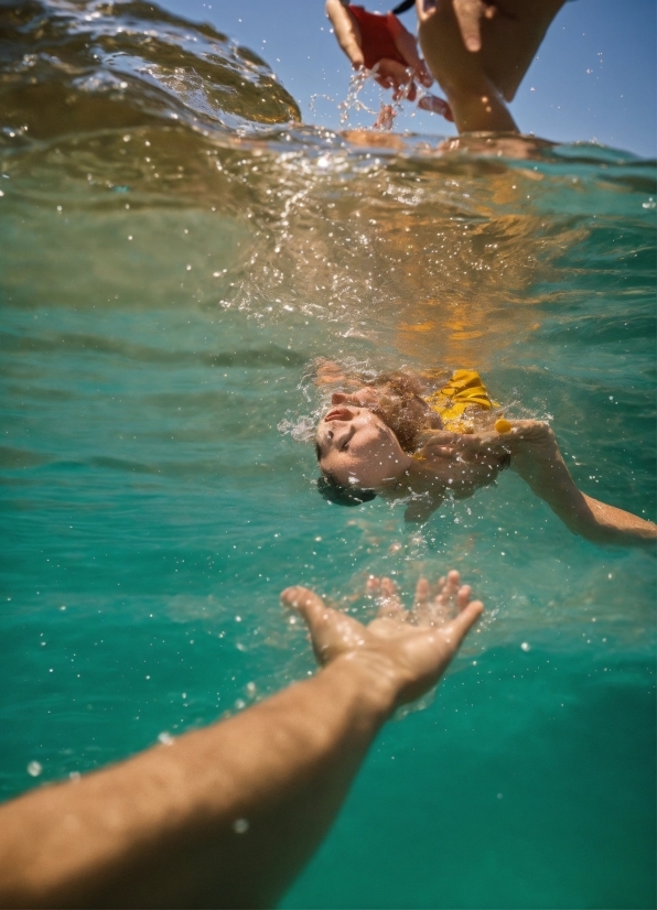
[[[353,403],[354,396],[334,394],[334,407],[320,421],[316,445],[320,467],[338,484],[377,489],[409,467],[409,455],[383,420]]]

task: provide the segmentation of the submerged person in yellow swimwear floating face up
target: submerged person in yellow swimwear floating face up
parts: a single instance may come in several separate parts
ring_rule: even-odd
[[[316,382],[342,389],[315,436],[320,489],[331,502],[410,497],[407,521],[424,521],[449,490],[471,496],[510,466],[573,533],[595,543],[657,540],[651,521],[581,492],[550,427],[504,420],[474,370],[451,379],[433,371],[364,381],[321,361]]]

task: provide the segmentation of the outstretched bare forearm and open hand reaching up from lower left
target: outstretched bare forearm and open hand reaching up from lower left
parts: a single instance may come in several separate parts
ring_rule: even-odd
[[[3,907],[267,907],[310,857],[381,724],[433,685],[482,611],[457,573],[419,625],[398,600],[362,626],[283,594],[325,664],[171,746],[0,808]]]

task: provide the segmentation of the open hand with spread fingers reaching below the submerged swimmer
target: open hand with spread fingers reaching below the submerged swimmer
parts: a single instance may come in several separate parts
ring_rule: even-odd
[[[471,602],[457,572],[441,578],[433,592],[420,578],[410,610],[389,578],[370,579],[370,589],[379,611],[369,626],[331,609],[305,587],[287,588],[281,599],[304,619],[320,663],[341,657],[369,661],[394,684],[397,705],[411,702],[438,682],[484,606]]]

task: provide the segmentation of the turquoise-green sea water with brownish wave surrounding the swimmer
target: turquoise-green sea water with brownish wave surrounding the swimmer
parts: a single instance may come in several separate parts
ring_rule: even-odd
[[[654,554],[508,473],[421,529],[330,507],[295,437],[316,356],[475,367],[654,517],[655,163],[290,123],[266,64],[138,2],[0,28],[2,797],[303,678],[288,584],[367,618],[369,572],[453,566],[486,617],[283,906],[654,906]]]

